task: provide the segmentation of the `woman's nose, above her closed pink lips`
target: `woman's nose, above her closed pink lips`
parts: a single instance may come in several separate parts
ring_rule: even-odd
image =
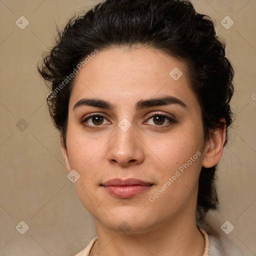
[[[115,135],[107,143],[107,160],[122,167],[141,163],[144,160],[143,143],[137,138],[132,125],[126,131],[116,126],[115,131]]]

